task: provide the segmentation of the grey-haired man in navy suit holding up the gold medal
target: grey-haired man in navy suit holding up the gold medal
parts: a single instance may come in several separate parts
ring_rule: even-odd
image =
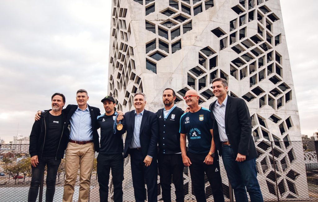
[[[157,201],[157,115],[145,110],[146,95],[134,95],[135,110],[118,115],[122,130],[127,131],[124,158],[130,154],[131,174],[136,202],[145,201],[145,181],[148,201]],[[118,128],[117,128],[118,130]]]

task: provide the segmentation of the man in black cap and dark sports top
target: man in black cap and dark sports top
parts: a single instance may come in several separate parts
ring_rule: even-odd
[[[124,130],[114,130],[116,113],[115,100],[106,96],[101,100],[104,104],[105,114],[97,117],[100,128],[100,151],[97,157],[97,175],[99,183],[100,201],[108,201],[109,172],[112,169],[114,185],[114,201],[122,202],[122,179],[124,176],[124,150],[122,134]]]

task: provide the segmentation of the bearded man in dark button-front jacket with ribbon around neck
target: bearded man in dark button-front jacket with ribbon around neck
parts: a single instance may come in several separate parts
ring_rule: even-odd
[[[176,202],[184,201],[183,190],[183,162],[180,149],[180,117],[183,110],[174,105],[176,93],[166,88],[162,94],[164,108],[156,112],[159,125],[159,153],[158,168],[162,199],[171,202],[171,176],[176,188]]]

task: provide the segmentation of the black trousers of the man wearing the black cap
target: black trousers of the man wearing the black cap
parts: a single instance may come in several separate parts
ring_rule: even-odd
[[[109,172],[112,169],[114,201],[122,202],[122,180],[124,177],[124,158],[122,154],[98,154],[97,175],[100,185],[100,202],[108,202]]]

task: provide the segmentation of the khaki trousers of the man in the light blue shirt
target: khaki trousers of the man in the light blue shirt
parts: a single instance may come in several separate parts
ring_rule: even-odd
[[[87,202],[90,177],[94,163],[94,144],[68,143],[65,154],[65,173],[63,202],[73,202],[74,185],[79,169],[79,199]]]

